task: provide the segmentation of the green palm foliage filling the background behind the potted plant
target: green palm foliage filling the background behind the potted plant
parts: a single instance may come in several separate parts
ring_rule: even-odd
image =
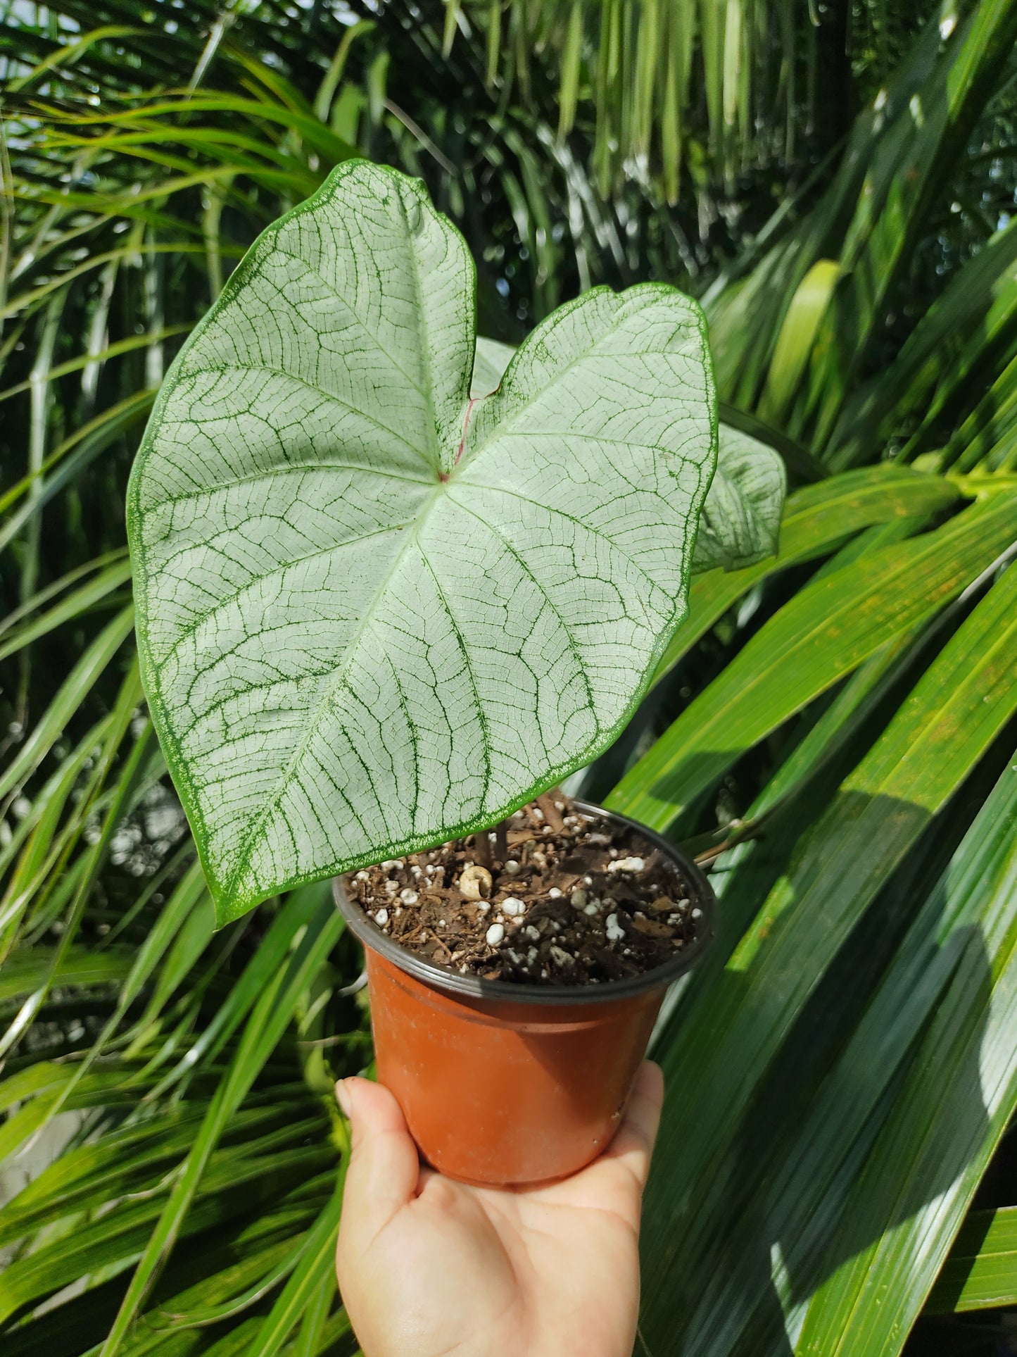
[[[1013,1350],[1016,37],[1013,0],[0,4],[5,1357],[357,1346],[357,950],[324,887],[213,932],[123,535],[183,337],[353,153],[426,179],[492,338],[700,297],[792,479],[583,775],[721,898],[655,1038],[641,1350]]]

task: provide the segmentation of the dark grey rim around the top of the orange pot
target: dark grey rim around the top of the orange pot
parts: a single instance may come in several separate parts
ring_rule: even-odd
[[[613,999],[628,999],[632,995],[645,993],[648,989],[664,989],[698,961],[702,949],[713,938],[713,916],[716,909],[713,889],[692,858],[686,856],[681,848],[669,843],[656,830],[640,825],[637,820],[631,820],[617,810],[605,810],[603,806],[597,806],[590,801],[572,798],[572,802],[576,809],[586,814],[602,816],[605,820],[612,820],[618,825],[637,829],[644,839],[670,858],[687,878],[694,896],[693,905],[702,911],[702,917],[698,920],[700,930],[693,942],[683,947],[673,961],[664,962],[663,966],[655,966],[652,970],[644,970],[640,976],[629,976],[625,980],[607,980],[599,985],[525,985],[504,980],[481,980],[479,976],[464,976],[450,966],[424,961],[423,957],[395,942],[378,928],[373,919],[363,913],[359,905],[347,898],[340,877],[332,878],[332,896],[336,908],[353,935],[365,949],[369,947],[372,951],[378,953],[415,980],[420,980],[426,985],[443,989],[460,997],[496,999],[504,1003],[521,1004],[553,1003],[556,1006],[578,1006],[607,1003]]]

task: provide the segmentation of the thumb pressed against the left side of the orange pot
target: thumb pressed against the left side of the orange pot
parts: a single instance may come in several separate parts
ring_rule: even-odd
[[[353,1148],[343,1190],[343,1224],[367,1247],[416,1191],[419,1160],[396,1099],[369,1079],[336,1084],[350,1118]]]

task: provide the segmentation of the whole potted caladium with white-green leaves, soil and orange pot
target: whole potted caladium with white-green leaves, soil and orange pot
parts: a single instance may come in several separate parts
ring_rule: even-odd
[[[591,1159],[709,934],[673,845],[556,788],[625,726],[693,570],[774,547],[702,315],[595,289],[513,353],[465,242],[353,160],[254,244],[129,490],[145,691],[220,923],[335,877],[424,1155]]]

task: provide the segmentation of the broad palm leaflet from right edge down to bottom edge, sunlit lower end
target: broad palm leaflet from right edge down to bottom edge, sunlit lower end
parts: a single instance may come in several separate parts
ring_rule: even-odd
[[[997,908],[968,939],[845,1202],[831,1248],[849,1261],[812,1296],[800,1353],[900,1352],[1017,1107],[1017,763],[1005,780]]]

